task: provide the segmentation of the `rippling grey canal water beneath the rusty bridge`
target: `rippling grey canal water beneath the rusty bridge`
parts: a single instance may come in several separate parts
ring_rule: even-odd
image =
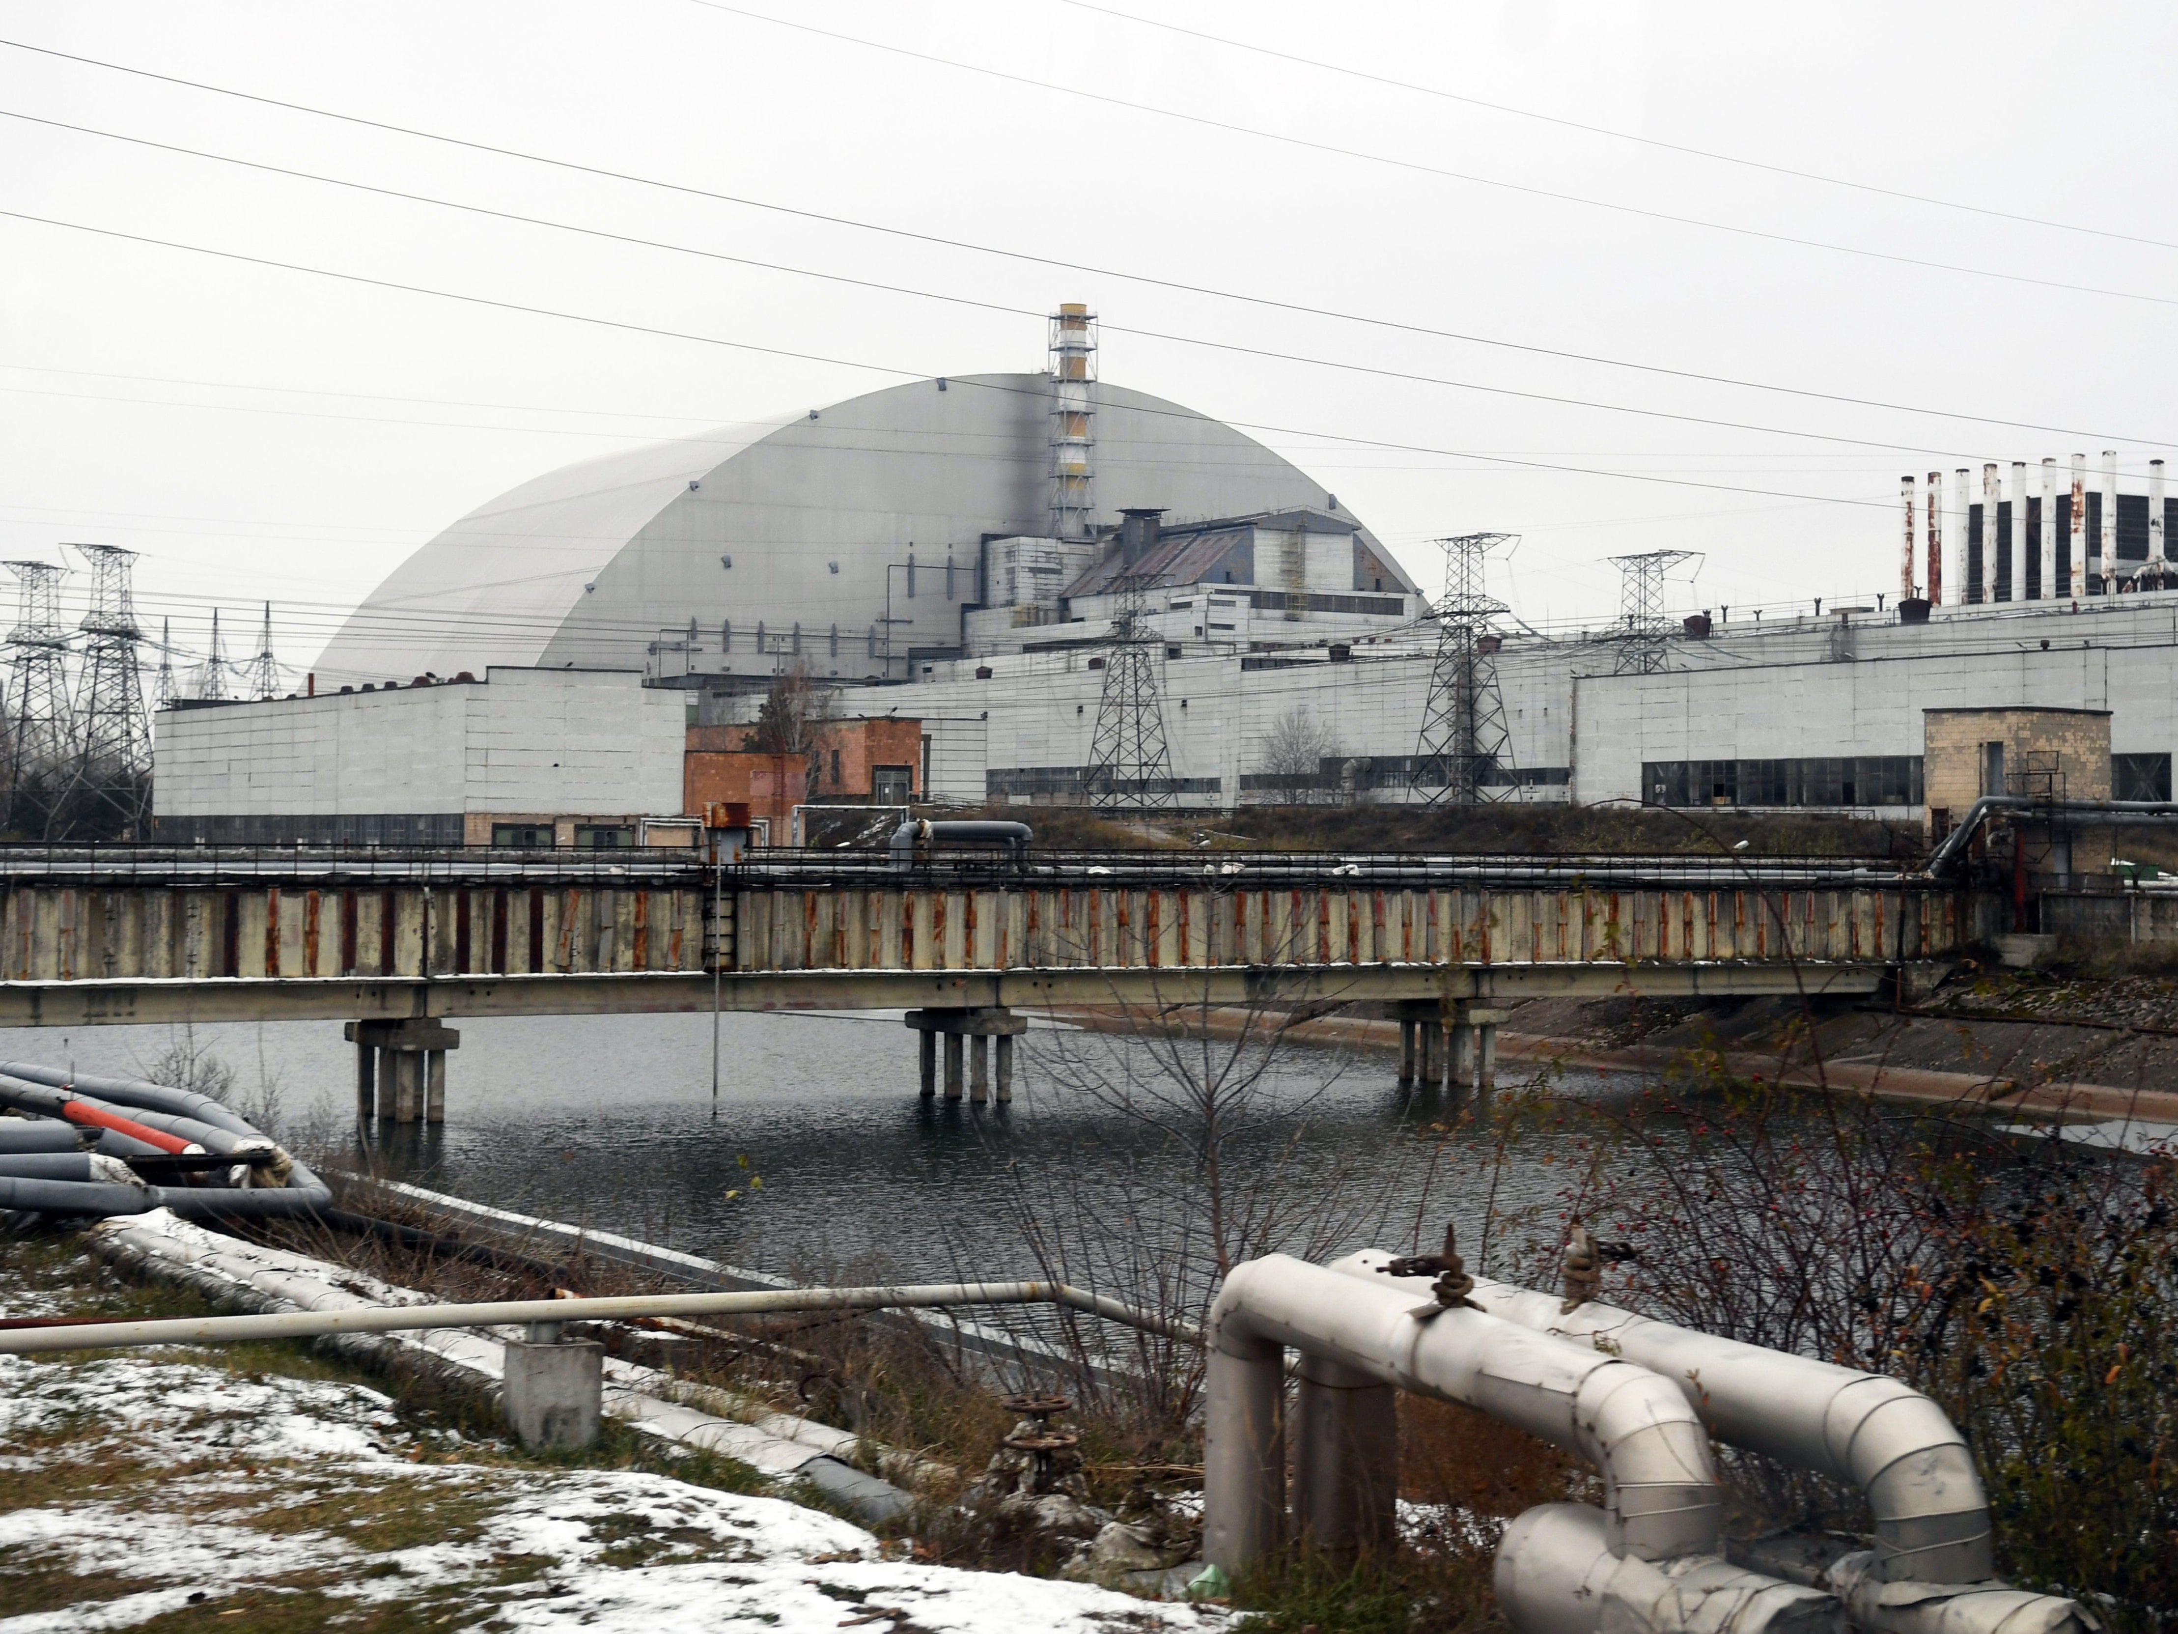
[[[1063,1089],[1069,1074],[1052,1070],[1085,1050],[1130,1052],[1141,1070],[1148,1052],[1133,1041],[1085,1041],[1035,1024],[1021,1041],[1013,1107],[976,1107],[917,1096],[915,1037],[897,1015],[727,1015],[712,1102],[708,1015],[457,1026],[444,1129],[381,1124],[370,1133],[390,1172],[782,1275],[1030,1275],[1017,1190],[1041,1207],[1074,1198],[1063,1207],[1085,1218],[1072,1224],[1109,1229],[1082,1203],[1109,1166],[1130,1161],[1137,1172],[1161,1168],[1159,1179],[1174,1185],[1187,1181],[1183,1155]],[[0,1059],[142,1072],[174,1039],[172,1028],[144,1026],[13,1031],[0,1035]],[[290,1129],[355,1150],[353,1057],[338,1024],[198,1026],[194,1039],[235,1068],[240,1094],[270,1085]],[[1420,1237],[1435,1242],[1446,1214],[1475,1242],[1488,1179],[1457,1153],[1431,1159],[1433,1142],[1418,1129],[1444,1118],[1446,1105],[1403,1096],[1394,1081],[1387,1052],[1285,1052],[1272,1087],[1309,1100],[1307,1111],[1276,1139],[1239,1142],[1235,1163],[1270,1161],[1270,1146],[1292,1142],[1302,1176],[1331,1183],[1368,1172],[1366,1185],[1398,1222],[1392,1246],[1414,1235],[1418,1218]],[[1498,1179],[1494,1205],[1503,1214],[1542,1203],[1562,1179],[1564,1170],[1522,1157]]]

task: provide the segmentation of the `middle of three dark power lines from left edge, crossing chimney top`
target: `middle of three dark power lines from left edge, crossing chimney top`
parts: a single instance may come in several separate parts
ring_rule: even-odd
[[[152,148],[157,153],[176,153],[176,155],[183,155],[183,157],[189,157],[189,159],[207,159],[211,163],[237,166],[242,170],[257,170],[257,172],[272,174],[272,176],[287,176],[287,179],[294,179],[294,181],[309,181],[309,183],[320,183],[320,185],[327,185],[327,187],[346,187],[351,192],[375,194],[379,198],[399,198],[399,200],[405,200],[405,203],[412,203],[412,205],[431,205],[436,209],[453,209],[453,211],[462,211],[462,214],[468,214],[468,216],[486,216],[490,220],[518,222],[523,227],[542,227],[542,229],[549,229],[549,231],[555,231],[555,233],[575,233],[575,235],[582,235],[582,237],[597,237],[597,240],[605,240],[610,244],[627,244],[627,246],[634,246],[634,248],[664,251],[669,255],[695,255],[695,257],[701,257],[706,261],[725,261],[730,266],[747,266],[747,268],[756,268],[756,270],[764,270],[764,272],[784,272],[784,275],[802,277],[802,279],[821,279],[825,283],[847,283],[847,285],[854,285],[858,290],[878,290],[882,294],[904,294],[904,296],[913,296],[917,301],[941,301],[945,305],[974,307],[978,312],[998,312],[998,314],[1004,314],[1008,318],[1041,318],[1043,316],[1035,307],[1015,307],[1015,305],[1004,305],[1000,301],[978,301],[974,296],[947,294],[943,290],[917,290],[917,288],[904,285],[904,283],[882,283],[878,279],[858,279],[858,277],[852,277],[852,275],[845,275],[845,272],[825,272],[821,268],[786,266],[784,261],[760,261],[760,259],[749,257],[749,255],[727,255],[725,251],[706,251],[706,248],[699,248],[695,244],[675,244],[671,240],[638,237],[634,233],[614,233],[614,231],[608,231],[608,229],[601,229],[601,227],[582,227],[579,222],[562,222],[562,220],[553,220],[549,216],[525,216],[521,211],[492,209],[488,205],[468,205],[468,203],[462,203],[462,200],[455,200],[455,198],[438,198],[433,194],[414,194],[414,192],[405,192],[401,187],[381,187],[381,185],[366,183],[366,181],[348,181],[344,176],[327,176],[327,174],[320,174],[320,172],[314,172],[314,170],[294,170],[290,166],[264,163],[259,159],[237,159],[237,157],[227,155],[227,153],[209,153],[205,148],[187,148],[187,146],[181,146],[181,144],[174,144],[174,142],[155,142],[150,137],[133,137],[133,135],[122,135],[118,131],[100,131],[100,129],[89,126],[89,124],[70,124],[65,120],[46,120],[46,118],[39,118],[35,113],[20,113],[15,109],[0,109],[0,118],[22,120],[26,124],[41,124],[41,126],[48,126],[48,129],[54,129],[54,131],[72,131],[76,135],[91,135],[91,137],[100,137],[105,142],[126,142],[126,144],[139,146],[139,148]],[[1207,340],[1202,336],[1180,336],[1180,333],[1172,333],[1172,331],[1163,331],[1163,329],[1139,329],[1139,327],[1117,325],[1117,322],[1106,322],[1102,327],[1109,329],[1109,331],[1113,331],[1113,333],[1139,336],[1143,340],[1163,340],[1163,342],[1176,344],[1176,346],[1202,346],[1202,349],[1209,349],[1209,351],[1222,351],[1222,353],[1233,353],[1233,355],[1244,355],[1244,357],[1263,357],[1268,362],[1302,364],[1302,366],[1309,366],[1309,368],[1335,368],[1335,370],[1344,370],[1344,373],[1353,373],[1353,375],[1370,375],[1374,379],[1396,379],[1396,381],[1409,381],[1409,383],[1416,383],[1416,386],[1444,386],[1448,390],[1483,392],[1488,397],[1514,397],[1514,399],[1522,399],[1522,401],[1529,401],[1529,403],[1551,403],[1555,407],[1586,407],[1586,410],[1596,410],[1601,414],[1638,414],[1638,416],[1655,418],[1655,420],[1675,420],[1679,425],[1705,425],[1705,427],[1729,429],[1729,431],[1755,431],[1760,436],[1786,436],[1786,438],[1801,438],[1801,440],[1808,440],[1808,442],[1840,442],[1840,444],[1858,447],[1858,449],[1888,449],[1888,451],[1897,451],[1897,453],[1917,453],[1917,455],[1930,455],[1930,458],[1941,458],[1941,460],[1973,460],[1973,458],[1980,458],[1978,453],[1973,453],[1969,449],[1932,449],[1932,447],[1925,447],[1925,444],[1919,444],[1919,442],[1893,442],[1888,438],[1853,438],[1853,436],[1840,436],[1840,434],[1832,434],[1832,431],[1801,431],[1797,427],[1786,427],[1786,425],[1760,425],[1760,423],[1751,423],[1751,420],[1729,420],[1729,418],[1718,418],[1718,416],[1708,416],[1708,414],[1679,414],[1679,412],[1673,412],[1673,410],[1651,410],[1651,407],[1640,407],[1640,405],[1634,405],[1634,403],[1603,403],[1599,399],[1564,397],[1564,394],[1557,394],[1557,392],[1529,392],[1529,390],[1520,390],[1520,388],[1514,388],[1514,386],[1485,386],[1481,381],[1448,379],[1444,375],[1422,375],[1418,370],[1407,370],[1407,368],[1379,368],[1374,364],[1353,364],[1353,362],[1346,362],[1346,359],[1339,359],[1339,357],[1311,357],[1307,353],[1274,351],[1270,346],[1246,346],[1246,344],[1239,344],[1239,342]],[[560,431],[560,436],[584,436],[584,434],[579,434],[579,431]]]

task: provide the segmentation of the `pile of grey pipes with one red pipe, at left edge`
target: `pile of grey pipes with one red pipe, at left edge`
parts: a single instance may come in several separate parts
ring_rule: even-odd
[[[83,1094],[96,1087],[100,1094]],[[137,1078],[72,1078],[54,1068],[0,1068],[0,1105],[28,1120],[0,1124],[0,1209],[113,1216],[172,1209],[179,1216],[294,1216],[333,1200],[307,1166],[209,1096]],[[96,1131],[96,1163],[48,1161]],[[192,1163],[189,1159],[213,1159]],[[218,1163],[216,1159],[233,1159]],[[227,1170],[213,1185],[148,1185],[126,1159],[179,1159]],[[152,1163],[146,1163],[148,1168]],[[81,1170],[81,1172],[78,1172]]]

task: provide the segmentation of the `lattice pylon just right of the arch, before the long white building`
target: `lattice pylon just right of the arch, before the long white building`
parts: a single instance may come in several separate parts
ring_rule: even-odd
[[[1444,547],[1444,599],[1435,608],[1437,662],[1414,749],[1409,784],[1424,802],[1479,806],[1512,767],[1512,734],[1496,684],[1498,636],[1490,621],[1505,603],[1483,590],[1483,560],[1514,534],[1459,534]]]

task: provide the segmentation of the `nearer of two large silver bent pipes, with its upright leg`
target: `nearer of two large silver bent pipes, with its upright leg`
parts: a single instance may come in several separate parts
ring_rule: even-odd
[[[1457,1401],[1590,1460],[1603,1510],[1529,1525],[1498,1551],[1498,1603],[1520,1634],[1612,1627],[1834,1630],[1836,1597],[1729,1566],[1710,1438],[1668,1379],[1376,1277],[1265,1255],[1237,1266],[1209,1325],[1202,1553],[1228,1573],[1285,1532],[1278,1407],[1302,1353],[1294,1510],[1320,1545],[1387,1540],[1398,1390]],[[1374,1510],[1374,1514],[1370,1514]],[[1568,1529],[1570,1527],[1570,1529]]]

